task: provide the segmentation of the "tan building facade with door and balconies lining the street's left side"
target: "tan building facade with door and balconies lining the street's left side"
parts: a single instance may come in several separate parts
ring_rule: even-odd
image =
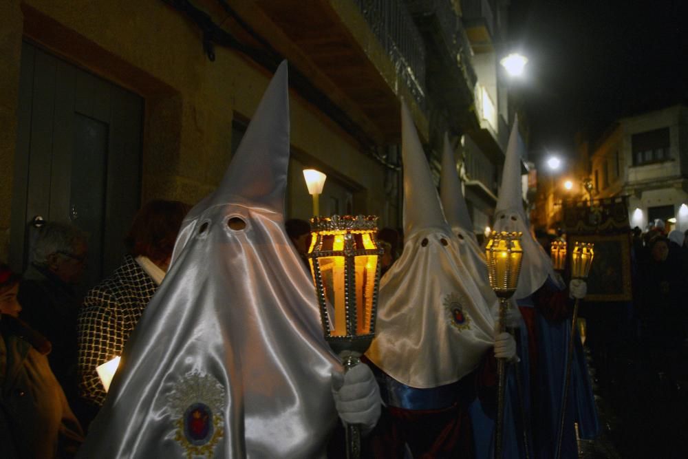
[[[400,99],[433,170],[449,131],[477,228],[508,138],[497,63],[505,0],[8,0],[0,6],[0,259],[19,270],[35,217],[92,234],[94,277],[154,198],[213,190],[272,71],[290,63],[287,217],[402,223]]]

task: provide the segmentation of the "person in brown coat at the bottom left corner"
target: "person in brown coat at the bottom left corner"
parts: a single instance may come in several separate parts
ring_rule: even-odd
[[[50,341],[19,319],[19,280],[0,264],[0,454],[72,457],[83,433],[48,365]]]

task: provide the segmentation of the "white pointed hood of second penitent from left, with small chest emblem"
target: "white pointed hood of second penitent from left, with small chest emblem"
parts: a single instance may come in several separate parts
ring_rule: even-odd
[[[380,281],[369,359],[396,381],[430,388],[458,381],[494,344],[494,322],[444,220],[420,140],[402,105],[405,244]]]

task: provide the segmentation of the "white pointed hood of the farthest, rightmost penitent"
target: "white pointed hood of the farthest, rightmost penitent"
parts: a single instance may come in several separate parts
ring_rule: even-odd
[[[523,188],[521,181],[521,158],[525,146],[518,131],[518,119],[509,136],[502,186],[499,188],[499,198],[495,209],[495,231],[520,231],[523,261],[519,274],[515,299],[526,298],[545,283],[549,276],[559,288],[563,284],[552,268],[552,261],[544,248],[530,234],[528,218],[523,208]]]

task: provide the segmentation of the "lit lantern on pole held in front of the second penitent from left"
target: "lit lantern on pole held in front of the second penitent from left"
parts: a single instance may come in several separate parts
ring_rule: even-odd
[[[499,298],[499,323],[497,332],[504,332],[506,310],[510,307],[508,299],[516,291],[521,271],[523,249],[522,233],[497,233],[493,231],[485,247],[487,270],[490,286]],[[495,458],[502,458],[502,438],[504,436],[504,391],[506,389],[506,361],[497,359],[497,425],[495,427]]]

